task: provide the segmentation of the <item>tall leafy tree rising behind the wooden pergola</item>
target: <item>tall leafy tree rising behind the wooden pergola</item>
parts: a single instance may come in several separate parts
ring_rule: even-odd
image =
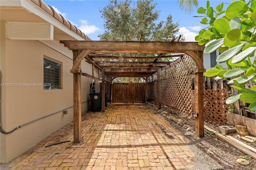
[[[134,4],[132,4],[134,2]],[[153,0],[110,0],[100,10],[104,19],[104,33],[99,35],[102,41],[170,41],[179,31],[178,23],[173,23],[169,14],[165,21],[159,21],[160,11],[156,10]],[[184,37],[181,38],[181,41]],[[120,54],[134,55],[134,54]],[[136,54],[148,56],[156,54]],[[141,60],[142,61],[142,60]],[[121,78],[120,78],[121,79]],[[115,79],[115,81],[120,81]],[[139,82],[143,79],[123,78],[124,82]]]

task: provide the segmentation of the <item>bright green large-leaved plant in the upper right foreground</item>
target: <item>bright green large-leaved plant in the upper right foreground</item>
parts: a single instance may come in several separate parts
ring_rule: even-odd
[[[228,70],[221,65],[206,71],[205,75],[216,79],[232,78],[228,84],[238,89],[238,95],[227,99],[233,103],[240,99],[251,103],[249,109],[256,111],[256,85],[245,88],[247,81],[256,83],[256,0],[233,1],[223,10],[224,4],[214,9],[207,1],[206,8],[198,8],[198,13],[205,15],[201,23],[208,27],[200,30],[195,40],[205,44],[205,53],[216,49],[222,52],[216,61],[226,61]]]

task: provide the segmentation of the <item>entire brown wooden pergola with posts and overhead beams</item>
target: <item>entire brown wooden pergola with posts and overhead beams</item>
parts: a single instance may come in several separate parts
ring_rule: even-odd
[[[74,143],[81,141],[81,75],[92,79],[94,77],[82,73],[81,61],[86,59],[102,72],[102,112],[105,111],[105,85],[103,75],[108,77],[147,77],[155,73],[157,69],[163,68],[170,62],[158,61],[160,58],[182,57],[181,55],[165,55],[169,53],[185,53],[192,57],[196,63],[195,73],[195,124],[196,135],[204,136],[203,117],[203,85],[205,72],[203,65],[204,46],[197,42],[118,42],[118,41],[72,41],[62,40],[64,46],[73,51],[73,73],[74,88]],[[134,53],[134,56],[117,56],[110,53]],[[158,53],[156,56],[137,57],[137,53]],[[116,59],[116,61],[96,61],[100,59]],[[127,59],[130,59],[127,61]],[[136,59],[154,59],[153,61],[135,61]],[[124,61],[126,60],[126,61]],[[94,68],[93,67],[93,68]]]

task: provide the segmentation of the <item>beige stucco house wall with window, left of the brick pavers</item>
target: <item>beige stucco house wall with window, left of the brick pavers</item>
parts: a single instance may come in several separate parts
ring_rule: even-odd
[[[31,9],[40,10],[33,2],[27,0],[26,3]],[[8,13],[8,8],[4,10]],[[44,14],[43,10],[40,12]],[[73,121],[73,74],[70,73],[73,63],[72,51],[60,44],[59,40],[85,39],[77,34],[72,36],[75,34],[72,30],[65,30],[63,36],[61,34],[57,36],[59,33],[56,32],[59,24],[57,20],[53,20],[56,22],[55,25],[50,23],[55,29],[53,40],[40,38],[37,40],[35,37],[31,40],[29,38],[12,39],[6,34],[8,22],[20,21],[14,19],[8,21],[3,18],[4,16],[1,16],[0,25],[1,129],[8,132],[24,125],[10,134],[0,133],[0,162],[6,163]],[[66,28],[59,27],[58,29]],[[42,85],[44,83],[44,57],[61,63],[61,89],[44,89]],[[94,70],[94,76],[98,77],[98,70]],[[83,60],[82,71],[92,75],[92,65]],[[92,79],[82,76],[82,113],[90,109],[90,83]],[[66,109],[68,114],[64,115],[63,109]],[[42,119],[34,121],[38,118]],[[30,123],[31,121],[34,122]],[[26,123],[29,124],[26,125]]]

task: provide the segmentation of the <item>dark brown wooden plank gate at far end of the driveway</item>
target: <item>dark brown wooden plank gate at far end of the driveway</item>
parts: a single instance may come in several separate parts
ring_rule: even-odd
[[[146,83],[113,83],[113,103],[145,103]]]

